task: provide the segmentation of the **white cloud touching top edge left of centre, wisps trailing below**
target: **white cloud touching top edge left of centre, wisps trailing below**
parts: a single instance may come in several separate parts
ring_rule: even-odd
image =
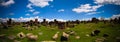
[[[37,7],[46,7],[49,5],[49,2],[52,2],[53,0],[29,0],[29,4],[26,6],[27,8],[29,8],[29,12],[32,12],[33,15],[37,15],[40,12],[36,11],[35,9],[33,9],[33,6],[37,6]]]

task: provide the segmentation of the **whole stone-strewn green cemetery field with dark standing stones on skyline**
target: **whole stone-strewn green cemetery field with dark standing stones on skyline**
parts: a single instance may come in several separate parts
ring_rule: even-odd
[[[120,42],[120,21],[50,21],[0,23],[0,42]],[[114,25],[113,25],[114,24]]]

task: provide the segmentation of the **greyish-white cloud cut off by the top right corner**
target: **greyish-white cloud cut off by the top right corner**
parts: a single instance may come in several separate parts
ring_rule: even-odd
[[[96,4],[115,4],[120,5],[120,0],[94,0]]]

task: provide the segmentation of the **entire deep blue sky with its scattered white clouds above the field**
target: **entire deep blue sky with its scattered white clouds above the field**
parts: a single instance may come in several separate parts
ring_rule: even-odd
[[[120,0],[0,0],[0,18],[82,20],[120,16]]]

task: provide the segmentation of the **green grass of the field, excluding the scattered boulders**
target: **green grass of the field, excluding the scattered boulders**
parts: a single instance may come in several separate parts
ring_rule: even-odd
[[[100,30],[100,34],[98,36],[94,37],[87,37],[87,34],[90,34],[94,30]],[[27,33],[33,33],[38,35],[38,40],[36,42],[41,42],[41,41],[52,41],[52,36],[56,32],[59,33],[59,38],[56,40],[57,42],[60,42],[60,35],[62,35],[63,31],[69,31],[73,30],[76,32],[76,35],[80,36],[80,39],[75,39],[75,36],[72,35],[69,37],[68,42],[94,42],[96,38],[101,38],[103,34],[108,34],[109,37],[106,38],[106,42],[116,42],[116,37],[120,37],[120,24],[110,24],[110,23],[86,23],[86,24],[78,24],[74,28],[70,29],[64,29],[60,30],[57,27],[49,27],[49,26],[40,26],[39,28],[35,30],[26,30],[22,25],[15,25],[11,28],[8,29],[1,29],[0,28],[0,35],[1,34],[6,34],[6,36],[9,35],[15,35],[17,37],[17,34],[19,32],[24,32],[25,34]],[[42,33],[42,35],[39,35],[39,33]],[[28,38],[15,38],[15,40],[21,41],[21,42],[35,42],[35,41],[30,41]],[[5,41],[5,42],[13,42],[13,40],[9,40],[8,38],[1,39],[0,42]]]

